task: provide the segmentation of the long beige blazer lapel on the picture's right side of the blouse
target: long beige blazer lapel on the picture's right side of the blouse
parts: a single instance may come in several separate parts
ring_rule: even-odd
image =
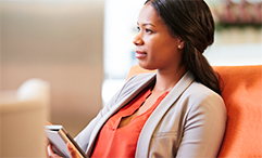
[[[194,76],[190,71],[187,71],[184,77],[177,82],[177,84],[171,90],[171,92],[165,96],[165,98],[154,109],[154,111],[145,123],[140,133],[137,143],[136,157],[149,157],[149,143],[159,121],[167,111],[167,109],[177,101],[177,98],[192,82]]]

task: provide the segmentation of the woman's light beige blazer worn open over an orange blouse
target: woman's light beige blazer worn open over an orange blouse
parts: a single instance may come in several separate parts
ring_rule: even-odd
[[[155,74],[132,77],[75,137],[88,157],[104,122],[154,79]],[[194,81],[192,74],[187,71],[145,123],[136,157],[216,157],[225,126],[226,108],[222,97]]]

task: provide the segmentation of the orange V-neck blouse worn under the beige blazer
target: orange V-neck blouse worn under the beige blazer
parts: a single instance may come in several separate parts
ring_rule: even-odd
[[[142,105],[151,94],[151,88],[144,90],[130,103],[121,108],[101,129],[91,157],[135,157],[137,141],[145,122],[167,93],[163,93],[147,111],[135,116],[128,124],[117,128],[122,118],[133,115]]]

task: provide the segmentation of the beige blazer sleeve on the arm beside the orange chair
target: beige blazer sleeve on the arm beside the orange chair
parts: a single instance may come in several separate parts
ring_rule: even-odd
[[[226,108],[216,93],[191,101],[185,115],[178,158],[216,157],[226,127]]]

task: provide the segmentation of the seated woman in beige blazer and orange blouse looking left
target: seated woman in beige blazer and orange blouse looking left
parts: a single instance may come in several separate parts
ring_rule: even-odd
[[[75,141],[88,157],[216,157],[226,109],[202,55],[214,37],[208,5],[148,0],[137,25],[138,63],[157,74],[126,81]]]

